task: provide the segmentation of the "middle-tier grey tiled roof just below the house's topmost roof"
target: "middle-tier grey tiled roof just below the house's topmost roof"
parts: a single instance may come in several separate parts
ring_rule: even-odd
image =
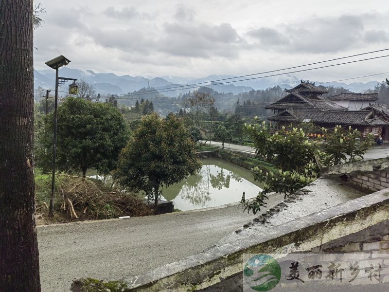
[[[287,99],[290,95],[297,97],[300,101],[293,102],[282,102]],[[265,109],[320,109],[320,110],[345,110],[345,108],[337,105],[335,102],[328,100],[326,97],[318,96],[317,98],[308,98],[304,95],[299,94],[298,92],[291,92],[279,101],[267,105]]]

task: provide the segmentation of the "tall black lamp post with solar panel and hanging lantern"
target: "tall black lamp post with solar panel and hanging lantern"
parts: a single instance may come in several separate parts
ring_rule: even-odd
[[[73,92],[69,92],[71,94],[77,94],[78,93],[78,87],[75,85],[75,81],[77,79],[73,78],[63,78],[58,76],[58,69],[62,66],[66,66],[71,61],[64,57],[63,55],[60,55],[56,58],[53,58],[50,61],[47,61],[45,64],[49,66],[50,68],[55,69],[55,97],[54,97],[54,141],[53,141],[53,174],[52,174],[52,193],[51,193],[51,199],[50,199],[50,210],[49,210],[49,217],[54,216],[54,183],[55,183],[55,157],[56,157],[56,148],[57,148],[57,106],[58,106],[58,86],[61,86],[62,84],[65,84],[65,82],[68,82],[68,80],[73,80],[73,88],[76,87]]]

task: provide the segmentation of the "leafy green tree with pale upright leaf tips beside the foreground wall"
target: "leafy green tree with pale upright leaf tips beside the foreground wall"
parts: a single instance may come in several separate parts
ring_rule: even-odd
[[[312,125],[305,125],[312,129]],[[265,206],[266,194],[283,193],[285,198],[316,180],[321,166],[330,166],[363,159],[371,147],[372,136],[359,143],[361,133],[349,127],[346,131],[336,126],[333,131],[322,128],[322,142],[308,138],[302,128],[283,127],[274,135],[265,122],[248,125],[257,155],[275,164],[278,172],[263,173],[254,168],[254,178],[265,183],[264,190],[252,201],[242,200],[245,210],[254,213]]]

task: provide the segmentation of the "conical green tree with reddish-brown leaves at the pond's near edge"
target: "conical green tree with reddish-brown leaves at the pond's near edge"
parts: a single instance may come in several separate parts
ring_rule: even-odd
[[[195,144],[173,114],[166,119],[152,113],[142,117],[120,154],[114,177],[132,191],[144,191],[155,207],[163,186],[178,183],[201,167]]]

